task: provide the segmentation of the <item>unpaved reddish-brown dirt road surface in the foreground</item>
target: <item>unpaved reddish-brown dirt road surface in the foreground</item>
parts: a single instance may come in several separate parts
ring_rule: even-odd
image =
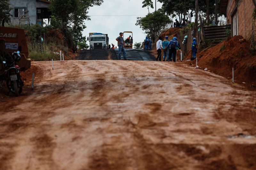
[[[170,62],[33,62],[0,105],[0,169],[256,169],[256,93]]]

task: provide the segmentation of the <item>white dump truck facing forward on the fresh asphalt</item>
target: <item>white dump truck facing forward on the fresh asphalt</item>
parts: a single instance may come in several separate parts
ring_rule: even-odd
[[[87,37],[87,41],[90,42],[90,49],[110,48],[110,45],[108,43],[108,34],[89,33],[89,37]]]

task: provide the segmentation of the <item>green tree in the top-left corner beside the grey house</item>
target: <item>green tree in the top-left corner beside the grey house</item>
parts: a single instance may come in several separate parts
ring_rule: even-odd
[[[6,23],[11,22],[11,14],[10,11],[12,8],[10,7],[9,0],[1,0],[0,1],[0,22],[2,23],[2,20],[5,19]]]

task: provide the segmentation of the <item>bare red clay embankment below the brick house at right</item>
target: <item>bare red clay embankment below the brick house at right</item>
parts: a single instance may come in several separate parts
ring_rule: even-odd
[[[234,36],[197,53],[198,65],[229,79],[232,77],[232,67],[234,67],[237,83],[245,82],[247,86],[255,86],[256,55],[253,55],[249,48],[250,43],[242,36]]]

